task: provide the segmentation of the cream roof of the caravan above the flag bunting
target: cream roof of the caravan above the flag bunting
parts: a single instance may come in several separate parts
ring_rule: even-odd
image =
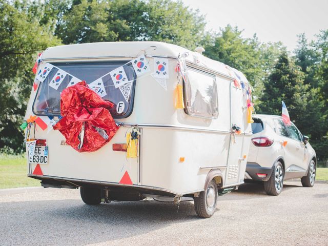
[[[145,50],[148,55],[169,58],[177,58],[179,54],[187,52],[189,53],[189,55],[186,57],[188,62],[195,64],[195,59],[198,59],[198,66],[210,69],[228,77],[234,77],[234,75],[229,74],[229,70],[227,69],[226,65],[220,63],[219,61],[212,60],[203,55],[200,55],[197,52],[190,51],[180,46],[162,42],[101,42],[63,45],[48,48],[43,53],[43,60],[92,59],[111,57],[132,58],[142,54]]]

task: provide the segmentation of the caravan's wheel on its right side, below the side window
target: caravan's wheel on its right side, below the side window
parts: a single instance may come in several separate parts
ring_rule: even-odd
[[[215,180],[213,179],[207,186],[205,191],[199,193],[199,197],[195,197],[195,211],[200,218],[210,218],[216,209],[218,191]],[[214,199],[214,200],[213,200]]]

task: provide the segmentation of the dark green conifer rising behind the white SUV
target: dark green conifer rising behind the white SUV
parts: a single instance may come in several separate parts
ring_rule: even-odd
[[[280,55],[273,72],[264,82],[264,91],[259,105],[259,113],[281,115],[281,101],[288,107],[291,120],[300,131],[311,137],[318,150],[324,132],[325,115],[319,88],[304,84],[305,74],[287,53]],[[319,148],[321,150],[321,148]],[[318,156],[325,153],[318,151]]]

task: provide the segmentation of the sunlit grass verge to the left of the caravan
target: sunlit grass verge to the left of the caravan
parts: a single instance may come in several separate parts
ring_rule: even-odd
[[[40,186],[40,181],[28,178],[26,158],[0,155],[0,189]]]

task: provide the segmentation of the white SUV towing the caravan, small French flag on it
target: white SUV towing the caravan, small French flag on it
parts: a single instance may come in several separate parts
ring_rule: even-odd
[[[303,187],[313,187],[316,177],[316,152],[292,123],[281,116],[254,115],[253,137],[245,180],[264,181],[268,195],[279,195],[283,180],[301,178]]]

